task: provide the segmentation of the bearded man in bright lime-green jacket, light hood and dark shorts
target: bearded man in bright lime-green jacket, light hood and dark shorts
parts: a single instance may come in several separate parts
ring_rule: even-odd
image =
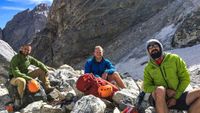
[[[150,58],[144,69],[144,92],[151,93],[157,113],[168,109],[200,113],[200,89],[185,91],[190,76],[185,62],[176,54],[164,53],[156,39],[147,41]]]

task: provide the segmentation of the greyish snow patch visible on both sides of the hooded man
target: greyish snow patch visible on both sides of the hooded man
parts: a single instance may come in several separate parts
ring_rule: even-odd
[[[200,44],[187,48],[180,48],[167,51],[178,54],[187,64],[190,70],[200,68]],[[120,62],[116,65],[120,73],[128,72],[134,79],[143,79],[143,70],[147,63],[147,56],[139,59],[131,58],[125,62]]]

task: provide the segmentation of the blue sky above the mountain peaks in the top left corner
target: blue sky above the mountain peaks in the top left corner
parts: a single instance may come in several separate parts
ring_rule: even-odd
[[[0,0],[0,28],[4,28],[6,23],[18,12],[25,9],[33,9],[39,3],[51,5],[53,0]]]

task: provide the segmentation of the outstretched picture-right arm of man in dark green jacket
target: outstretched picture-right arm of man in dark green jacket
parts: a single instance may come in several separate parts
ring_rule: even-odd
[[[42,62],[38,61],[37,59],[33,58],[32,56],[29,56],[29,60],[32,65],[39,67],[40,69],[45,71],[45,73],[48,72],[47,67]]]

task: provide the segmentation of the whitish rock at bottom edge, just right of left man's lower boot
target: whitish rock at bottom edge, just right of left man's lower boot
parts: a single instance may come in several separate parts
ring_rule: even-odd
[[[25,108],[21,109],[20,112],[21,113],[39,113],[43,104],[44,103],[42,100],[33,102],[29,104],[28,106],[26,106]]]

